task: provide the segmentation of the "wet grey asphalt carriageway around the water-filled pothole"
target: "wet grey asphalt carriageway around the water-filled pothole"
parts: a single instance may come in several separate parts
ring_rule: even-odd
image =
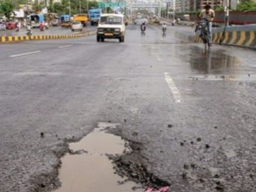
[[[170,191],[256,191],[255,51],[182,32],[0,45],[0,191],[49,191],[66,141],[108,121]]]

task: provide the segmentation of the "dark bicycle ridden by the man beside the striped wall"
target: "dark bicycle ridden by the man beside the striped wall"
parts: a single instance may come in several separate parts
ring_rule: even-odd
[[[210,51],[210,31],[209,31],[209,20],[203,19],[198,23],[197,26],[198,30],[200,30],[200,37],[204,43],[204,49],[205,51],[208,50]]]

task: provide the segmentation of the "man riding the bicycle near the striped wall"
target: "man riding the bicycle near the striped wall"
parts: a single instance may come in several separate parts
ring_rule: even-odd
[[[200,20],[207,20],[208,21],[208,30],[210,33],[210,42],[212,41],[212,22],[215,17],[215,12],[214,10],[211,9],[210,5],[204,6],[204,10],[201,11],[199,14],[199,19]]]

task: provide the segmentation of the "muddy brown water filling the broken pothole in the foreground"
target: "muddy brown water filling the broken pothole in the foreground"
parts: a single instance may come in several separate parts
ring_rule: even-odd
[[[73,153],[66,154],[61,159],[59,179],[62,186],[55,192],[144,191],[138,184],[116,174],[111,160],[107,157],[129,151],[125,140],[106,132],[106,128],[116,126],[117,124],[112,123],[99,123],[80,142],[69,144]]]

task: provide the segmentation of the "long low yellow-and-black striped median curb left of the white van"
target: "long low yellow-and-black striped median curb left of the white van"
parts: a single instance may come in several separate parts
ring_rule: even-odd
[[[91,34],[95,34],[95,31],[86,31],[79,34],[67,34],[67,35],[2,36],[0,37],[0,43],[31,41],[31,40],[46,40],[46,39],[79,38],[79,37],[85,37]]]

